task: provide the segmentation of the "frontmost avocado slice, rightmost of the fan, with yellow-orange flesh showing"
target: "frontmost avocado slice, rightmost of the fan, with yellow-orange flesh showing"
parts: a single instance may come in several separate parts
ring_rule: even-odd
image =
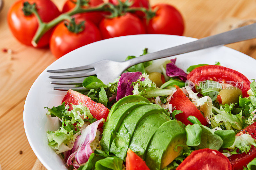
[[[148,145],[145,161],[149,169],[160,170],[177,158],[182,150],[179,144],[186,144],[185,125],[177,120],[163,123]]]

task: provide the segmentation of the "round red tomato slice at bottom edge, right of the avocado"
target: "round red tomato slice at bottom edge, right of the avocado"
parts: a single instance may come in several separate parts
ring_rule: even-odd
[[[209,148],[193,151],[176,170],[231,170],[228,158]]]

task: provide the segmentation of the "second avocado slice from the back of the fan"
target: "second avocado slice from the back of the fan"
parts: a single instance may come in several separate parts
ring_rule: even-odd
[[[146,102],[128,103],[116,109],[116,111],[111,116],[111,119],[109,119],[109,121],[105,123],[105,128],[102,134],[102,138],[100,140],[100,145],[105,152],[110,151],[110,146],[112,143],[112,135],[118,130],[125,116],[129,114],[136,107],[143,106],[143,105],[149,105],[149,103],[146,103]]]

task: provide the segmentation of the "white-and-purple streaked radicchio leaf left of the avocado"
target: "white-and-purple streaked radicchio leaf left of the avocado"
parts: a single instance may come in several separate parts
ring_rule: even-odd
[[[103,118],[81,130],[81,135],[77,137],[71,152],[68,152],[70,154],[67,160],[68,166],[73,165],[75,168],[79,168],[81,164],[88,161],[93,152],[90,144],[96,137],[98,125],[102,122],[104,122]]]

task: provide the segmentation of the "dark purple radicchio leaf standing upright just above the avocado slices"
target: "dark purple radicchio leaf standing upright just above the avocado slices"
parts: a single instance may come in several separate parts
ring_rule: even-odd
[[[127,72],[121,75],[119,82],[117,84],[117,92],[116,92],[116,101],[122,99],[125,96],[132,95],[133,86],[132,83],[136,82],[142,73],[137,72]],[[140,81],[144,81],[145,78],[141,78]]]

